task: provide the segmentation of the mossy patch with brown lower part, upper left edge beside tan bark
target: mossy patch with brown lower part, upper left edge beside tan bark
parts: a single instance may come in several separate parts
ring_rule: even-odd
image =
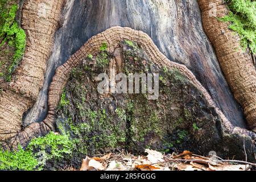
[[[11,80],[11,74],[19,64],[26,47],[26,34],[15,21],[16,11],[18,11],[16,2],[11,0],[0,2],[0,55],[4,58],[1,60],[0,77],[5,81]]]

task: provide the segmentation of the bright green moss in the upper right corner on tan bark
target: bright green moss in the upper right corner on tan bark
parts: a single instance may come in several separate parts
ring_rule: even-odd
[[[241,38],[243,49],[249,47],[256,53],[256,2],[250,0],[225,0],[230,13],[221,21],[230,22],[229,28],[236,31]]]

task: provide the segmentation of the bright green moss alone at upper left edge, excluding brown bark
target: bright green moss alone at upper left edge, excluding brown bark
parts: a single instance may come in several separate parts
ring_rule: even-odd
[[[18,5],[13,4],[8,6],[7,4],[14,1],[1,1],[0,5],[0,40],[2,43],[0,47],[7,42],[10,47],[15,48],[13,61],[9,65],[6,71],[6,81],[11,80],[11,74],[14,72],[16,65],[18,65],[20,58],[23,56],[26,47],[26,34],[22,28],[15,22],[16,11]]]

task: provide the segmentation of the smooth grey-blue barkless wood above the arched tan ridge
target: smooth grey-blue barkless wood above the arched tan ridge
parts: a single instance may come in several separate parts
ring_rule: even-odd
[[[150,35],[168,59],[191,69],[234,126],[246,127],[242,109],[234,100],[203,31],[196,0],[68,0],[43,89],[34,107],[24,115],[26,125],[46,117],[48,86],[55,69],[90,37],[112,26],[127,26]]]

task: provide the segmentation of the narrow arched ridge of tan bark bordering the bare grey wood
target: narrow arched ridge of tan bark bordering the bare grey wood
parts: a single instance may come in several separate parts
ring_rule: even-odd
[[[248,130],[234,127],[230,121],[225,117],[220,109],[214,104],[207,90],[200,84],[191,71],[185,65],[181,65],[170,61],[163,55],[152,42],[150,36],[142,31],[136,31],[128,27],[112,27],[108,30],[93,36],[82,46],[79,51],[72,55],[65,64],[56,69],[55,76],[52,79],[51,86],[48,93],[48,115],[42,123],[33,123],[28,126],[24,131],[6,141],[9,148],[16,147],[18,143],[26,144],[32,137],[39,134],[46,134],[49,129],[55,129],[56,109],[60,102],[61,93],[71,75],[72,69],[77,67],[81,61],[84,60],[89,54],[94,55],[102,46],[103,42],[108,43],[108,51],[113,52],[114,49],[122,40],[132,40],[142,46],[143,50],[147,53],[148,58],[160,67],[166,66],[168,69],[177,69],[183,73],[193,85],[203,94],[208,105],[213,107],[216,113],[221,118],[221,123],[224,125],[224,131],[227,133],[245,134],[249,137],[255,138],[255,134]],[[46,124],[46,125],[45,125]]]

